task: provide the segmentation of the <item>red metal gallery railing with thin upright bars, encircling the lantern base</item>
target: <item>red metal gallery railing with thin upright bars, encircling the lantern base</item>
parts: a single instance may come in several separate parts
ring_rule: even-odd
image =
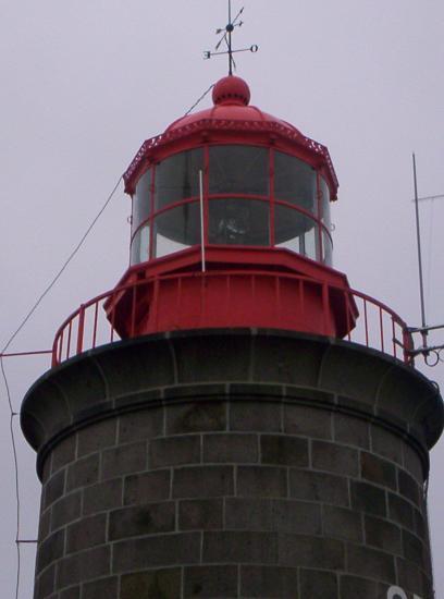
[[[411,334],[407,331],[407,325],[397,314],[391,308],[373,300],[365,293],[351,289],[343,289],[322,281],[314,281],[306,277],[297,274],[282,274],[270,271],[230,271],[230,272],[206,272],[199,273],[205,279],[217,277],[219,279],[225,277],[226,285],[230,289],[230,280],[232,278],[242,277],[243,279],[251,279],[251,289],[255,289],[257,278],[266,277],[275,281],[276,288],[276,325],[280,322],[280,285],[283,280],[293,280],[298,286],[300,295],[300,306],[304,307],[305,295],[307,290],[319,285],[322,296],[324,314],[328,314],[332,308],[332,298],[340,295],[345,305],[349,309],[345,309],[346,329],[349,330],[346,340],[362,344],[367,347],[379,350],[390,354],[398,359],[403,359],[407,364],[411,364],[411,350],[414,349]],[[181,296],[183,282],[188,278],[196,278],[196,273],[170,274],[166,277],[158,277],[150,280],[138,281],[132,284],[116,288],[112,291],[102,293],[101,295],[90,300],[86,304],[74,311],[60,327],[55,334],[52,346],[52,365],[55,366],[61,362],[81,354],[87,350],[112,343],[120,339],[115,330],[115,309],[110,306],[118,305],[119,301],[130,293],[126,321],[130,323],[125,337],[137,337],[136,320],[139,314],[136,314],[138,306],[137,298],[147,295],[149,301],[149,314],[153,322],[157,322],[157,310],[159,309],[159,290],[162,284],[171,284],[173,281],[177,285],[177,297]],[[205,319],[205,310],[207,306],[206,297],[207,285],[200,285],[200,311],[202,314],[202,323]],[[229,308],[229,306],[227,306]],[[355,322],[353,315],[356,314],[356,308],[360,315]],[[181,302],[176,303],[177,317],[180,321]],[[108,310],[108,316],[107,316]],[[148,311],[148,307],[147,307]],[[353,319],[353,321],[351,321]],[[196,328],[199,328],[197,326]]]

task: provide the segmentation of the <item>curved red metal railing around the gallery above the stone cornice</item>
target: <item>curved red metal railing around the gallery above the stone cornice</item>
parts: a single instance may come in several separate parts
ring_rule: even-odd
[[[230,279],[236,278],[236,277],[246,277],[246,272],[244,270],[230,270],[230,271],[210,271],[206,273],[199,273],[199,277],[201,278],[201,286],[200,286],[200,306],[199,310],[201,313],[206,311],[206,308],[208,307],[206,305],[206,289],[207,283],[210,278],[224,278],[225,283],[227,285],[227,291],[230,292]],[[361,338],[359,340],[354,339],[354,332],[349,331],[347,334],[347,339],[349,341],[355,341],[357,343],[360,343],[362,345],[366,345],[368,347],[377,349],[383,353],[388,353],[394,357],[399,357],[397,355],[397,347],[400,347],[403,351],[403,359],[406,364],[412,364],[411,362],[411,350],[414,347],[411,334],[408,332],[408,328],[406,322],[396,314],[394,313],[390,307],[384,305],[383,303],[379,302],[378,300],[374,300],[370,297],[369,295],[361,293],[359,291],[353,290],[353,289],[345,289],[341,288],[338,285],[332,285],[326,283],[322,280],[313,280],[309,277],[304,277],[299,274],[293,274],[293,273],[285,273],[276,272],[272,273],[270,271],[263,271],[263,270],[251,270],[248,272],[248,277],[251,278],[251,280],[255,280],[256,278],[260,277],[269,277],[270,279],[274,279],[275,281],[275,288],[276,288],[276,304],[275,304],[275,310],[276,310],[276,318],[279,321],[279,315],[280,315],[280,286],[285,280],[292,280],[294,283],[297,284],[300,295],[300,302],[299,307],[301,306],[304,309],[305,305],[305,295],[306,295],[306,289],[308,286],[319,286],[322,291],[322,304],[323,304],[323,314],[328,315],[334,307],[332,306],[332,297],[334,294],[340,294],[343,296],[343,298],[346,301],[349,305],[355,305],[356,301],[360,301],[363,306],[363,322],[360,327],[361,329]],[[176,293],[176,309],[177,313],[181,310],[181,289],[184,282],[190,278],[196,278],[195,272],[184,272],[180,274],[169,274],[165,277],[155,277],[150,281],[135,281],[126,285],[118,286],[113,289],[112,291],[108,291],[106,293],[102,293],[98,295],[97,297],[90,300],[86,304],[83,304],[76,311],[74,311],[59,328],[53,346],[52,346],[52,366],[57,366],[61,362],[63,362],[63,355],[64,359],[67,359],[70,357],[73,357],[75,355],[81,354],[82,352],[85,352],[87,350],[91,350],[96,346],[100,346],[102,344],[113,342],[114,335],[115,335],[115,329],[114,329],[114,315],[115,310],[111,310],[111,315],[109,315],[109,319],[107,320],[106,311],[99,310],[100,305],[115,305],[116,301],[119,301],[120,297],[123,296],[123,294],[131,293],[132,294],[132,301],[131,301],[131,316],[130,316],[130,322],[131,322],[131,330],[128,338],[133,338],[132,334],[135,330],[135,319],[136,319],[136,306],[138,304],[137,301],[137,294],[140,295],[139,292],[146,291],[144,288],[147,288],[150,284],[153,284],[153,295],[152,295],[152,302],[150,306],[150,311],[152,314],[152,318],[157,318],[157,306],[160,295],[160,285],[168,284],[169,282],[173,281],[177,284],[177,293]],[[375,318],[375,326],[371,326],[371,320],[369,318],[369,307],[372,307],[373,310],[377,313]],[[227,308],[230,307],[230,301],[227,302]],[[101,314],[102,318],[100,318],[100,322],[98,322],[97,315]],[[349,318],[349,310],[346,310],[347,318]],[[373,319],[374,320],[374,319]],[[385,341],[384,341],[384,321],[391,322],[391,333],[392,333],[392,343],[391,343],[391,351],[386,350]],[[86,333],[86,325],[87,322],[92,322],[90,330],[89,330],[89,337],[88,340],[85,338]],[[75,325],[74,325],[75,323]],[[373,322],[374,325],[374,322]],[[108,330],[107,332],[102,332],[102,337],[100,340],[100,343],[98,343],[98,334],[99,334],[99,328],[104,327]],[[72,340],[71,335],[69,337],[69,341],[66,340],[66,331],[69,330],[75,330],[77,331],[76,340]],[[199,327],[197,327],[199,328]],[[400,332],[402,339],[397,339],[395,337],[396,334],[396,328]],[[103,337],[104,334],[104,337]],[[385,333],[386,334],[386,333]],[[137,337],[137,335],[135,335]]]

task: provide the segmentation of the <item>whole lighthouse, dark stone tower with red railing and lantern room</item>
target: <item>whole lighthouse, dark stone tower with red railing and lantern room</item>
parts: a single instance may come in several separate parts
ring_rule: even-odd
[[[35,599],[431,599],[442,399],[332,268],[326,148],[229,76],[125,184],[130,267],[23,403]]]

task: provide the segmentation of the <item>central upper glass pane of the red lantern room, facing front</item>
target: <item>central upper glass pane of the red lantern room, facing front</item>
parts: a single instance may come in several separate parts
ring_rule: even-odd
[[[210,147],[210,194],[268,196],[269,150],[256,146]]]

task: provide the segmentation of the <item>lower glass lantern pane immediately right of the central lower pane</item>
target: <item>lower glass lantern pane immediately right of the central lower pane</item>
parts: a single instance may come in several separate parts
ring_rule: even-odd
[[[318,223],[294,208],[276,204],[274,207],[275,245],[292,249],[312,260],[319,256]]]

